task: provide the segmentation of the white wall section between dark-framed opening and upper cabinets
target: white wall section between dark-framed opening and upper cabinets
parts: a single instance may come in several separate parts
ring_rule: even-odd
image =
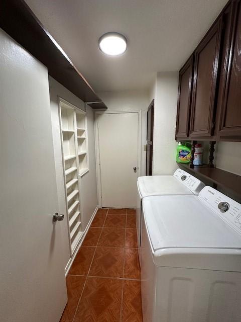
[[[158,72],[151,89],[154,104],[153,175],[171,175],[177,169],[175,128],[178,73]]]

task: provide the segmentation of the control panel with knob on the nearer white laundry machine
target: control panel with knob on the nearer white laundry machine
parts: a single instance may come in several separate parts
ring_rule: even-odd
[[[205,186],[198,197],[241,234],[241,204],[209,186]]]

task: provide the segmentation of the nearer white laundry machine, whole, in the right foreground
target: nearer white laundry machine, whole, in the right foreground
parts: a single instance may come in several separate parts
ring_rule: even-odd
[[[142,214],[144,322],[240,322],[241,205],[206,186]]]

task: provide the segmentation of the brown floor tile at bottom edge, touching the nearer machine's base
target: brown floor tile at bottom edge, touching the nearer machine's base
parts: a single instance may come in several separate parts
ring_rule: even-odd
[[[123,322],[142,322],[142,297],[140,281],[124,281]]]

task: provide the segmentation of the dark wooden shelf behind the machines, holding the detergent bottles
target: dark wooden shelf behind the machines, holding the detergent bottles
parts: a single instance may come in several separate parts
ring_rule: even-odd
[[[203,181],[206,185],[216,188],[239,203],[241,202],[241,176],[207,166],[194,166],[194,169],[191,169],[189,165],[181,163],[178,163],[178,166]]]

